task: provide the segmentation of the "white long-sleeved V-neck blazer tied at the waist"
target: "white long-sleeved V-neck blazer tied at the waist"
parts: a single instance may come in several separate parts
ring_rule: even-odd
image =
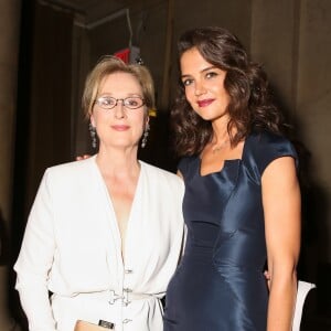
[[[124,259],[95,157],[45,171],[14,265],[30,331],[73,331],[77,319],[107,320],[116,331],[162,330],[159,299],[181,254],[184,185],[140,166]]]

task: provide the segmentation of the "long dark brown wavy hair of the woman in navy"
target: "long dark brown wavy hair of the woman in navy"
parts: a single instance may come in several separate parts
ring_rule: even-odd
[[[234,147],[252,130],[284,134],[284,117],[276,107],[267,75],[249,61],[239,40],[223,28],[207,26],[184,32],[178,43],[179,58],[196,47],[204,60],[226,72],[224,88],[229,95],[227,131]],[[202,119],[185,98],[180,82],[171,109],[174,151],[179,157],[200,153],[213,138],[210,121]],[[232,135],[232,129],[236,134]]]

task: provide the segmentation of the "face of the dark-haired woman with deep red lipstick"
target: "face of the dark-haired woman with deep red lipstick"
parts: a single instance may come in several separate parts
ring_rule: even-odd
[[[226,72],[206,62],[195,47],[182,54],[180,65],[185,96],[194,111],[205,120],[227,120]]]

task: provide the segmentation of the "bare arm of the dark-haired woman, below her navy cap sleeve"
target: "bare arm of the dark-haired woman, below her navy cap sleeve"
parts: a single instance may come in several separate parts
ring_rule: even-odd
[[[267,331],[290,331],[300,250],[300,189],[295,160],[273,161],[261,179],[270,296]]]

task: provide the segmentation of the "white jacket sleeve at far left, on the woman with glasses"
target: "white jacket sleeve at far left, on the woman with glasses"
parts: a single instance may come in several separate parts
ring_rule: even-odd
[[[40,184],[28,220],[21,252],[14,265],[15,288],[29,320],[30,331],[53,331],[55,322],[49,299],[47,279],[54,256],[52,197],[47,172]]]

